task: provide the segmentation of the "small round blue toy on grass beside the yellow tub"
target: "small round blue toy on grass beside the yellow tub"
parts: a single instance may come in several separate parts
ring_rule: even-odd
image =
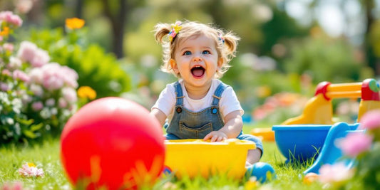
[[[276,173],[274,172],[274,169],[270,164],[267,164],[265,162],[257,162],[247,168],[245,176],[247,178],[255,176],[257,181],[259,181],[260,183],[265,183],[265,181],[267,180],[272,180],[276,178]]]

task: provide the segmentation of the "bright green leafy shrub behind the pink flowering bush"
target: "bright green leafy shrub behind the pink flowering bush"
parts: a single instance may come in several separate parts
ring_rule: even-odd
[[[112,53],[86,42],[86,28],[64,36],[61,28],[31,31],[30,40],[49,51],[51,60],[67,65],[79,75],[79,86],[90,86],[98,97],[118,96],[130,90],[130,75]]]

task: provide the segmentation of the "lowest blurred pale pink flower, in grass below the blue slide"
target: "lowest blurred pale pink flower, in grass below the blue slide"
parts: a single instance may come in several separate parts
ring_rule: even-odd
[[[319,181],[323,184],[341,184],[351,179],[354,171],[347,168],[342,162],[334,165],[324,164],[319,169]]]

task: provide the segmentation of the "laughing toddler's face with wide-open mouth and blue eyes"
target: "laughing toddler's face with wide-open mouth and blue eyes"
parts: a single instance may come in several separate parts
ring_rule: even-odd
[[[175,73],[180,73],[186,85],[200,87],[210,84],[222,66],[222,58],[218,57],[212,38],[192,36],[178,44],[170,65]]]

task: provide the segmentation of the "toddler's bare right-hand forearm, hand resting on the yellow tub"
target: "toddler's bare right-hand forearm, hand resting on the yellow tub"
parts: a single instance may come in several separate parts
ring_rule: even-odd
[[[219,142],[223,139],[236,138],[243,127],[240,110],[230,112],[225,116],[225,126],[218,131],[210,132],[203,140],[211,139],[211,142]]]

